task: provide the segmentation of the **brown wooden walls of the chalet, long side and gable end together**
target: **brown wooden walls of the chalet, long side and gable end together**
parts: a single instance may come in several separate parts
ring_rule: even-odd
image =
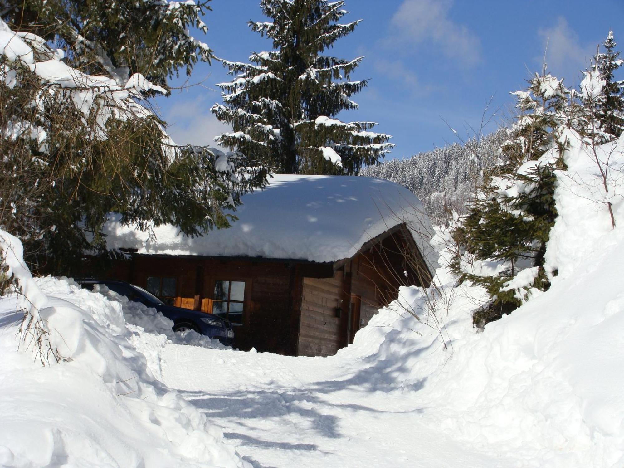
[[[175,305],[205,312],[212,310],[216,280],[245,281],[243,324],[233,327],[236,348],[330,356],[397,298],[399,286],[429,286],[431,277],[422,274],[426,267],[410,239],[404,227],[393,228],[334,264],[134,255],[120,260],[109,278],[145,288],[148,276],[174,276]]]

